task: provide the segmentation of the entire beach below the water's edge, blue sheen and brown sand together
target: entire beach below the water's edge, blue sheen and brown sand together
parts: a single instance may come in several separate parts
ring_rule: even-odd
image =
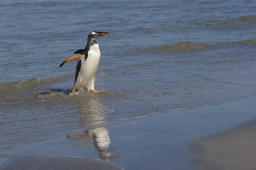
[[[110,163],[109,169],[255,169],[255,103],[253,96],[7,148],[0,152],[0,169],[22,169],[13,164],[21,159],[61,169],[49,163],[51,156],[69,160],[67,169],[83,169],[73,158],[98,160],[85,160],[96,169],[101,163]]]

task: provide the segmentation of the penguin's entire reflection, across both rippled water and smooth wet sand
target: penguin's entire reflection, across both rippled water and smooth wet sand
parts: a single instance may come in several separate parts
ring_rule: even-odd
[[[106,122],[108,114],[113,113],[114,110],[102,104],[108,99],[108,94],[93,95],[81,94],[75,96],[76,105],[79,107],[78,114],[79,124],[81,127],[100,125]],[[109,149],[110,137],[109,131],[105,127],[87,130],[84,134],[68,135],[68,138],[73,141],[81,141],[75,146],[94,146],[98,151],[100,158],[103,160],[112,160],[119,158],[119,155],[111,156],[114,149]],[[84,140],[83,140],[84,139]],[[86,149],[84,148],[84,150]],[[80,150],[81,151],[81,150]]]

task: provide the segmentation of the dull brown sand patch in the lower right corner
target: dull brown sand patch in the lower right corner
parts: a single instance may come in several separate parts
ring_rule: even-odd
[[[256,169],[256,121],[209,137],[191,148],[197,169]]]

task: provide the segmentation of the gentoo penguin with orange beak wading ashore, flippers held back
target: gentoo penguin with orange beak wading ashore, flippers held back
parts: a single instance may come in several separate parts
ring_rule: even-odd
[[[99,37],[107,34],[108,32],[90,32],[85,49],[77,50],[75,54],[80,53],[79,55],[72,56],[60,64],[61,67],[66,63],[78,61],[76,65],[76,76],[72,93],[79,88],[86,88],[87,91],[91,91],[96,94],[101,93],[100,91],[94,90],[95,74],[101,58],[100,48],[98,47],[96,40]]]

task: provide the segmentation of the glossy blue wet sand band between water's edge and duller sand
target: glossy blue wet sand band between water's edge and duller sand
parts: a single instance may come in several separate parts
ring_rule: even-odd
[[[125,169],[194,169],[198,167],[195,159],[206,157],[200,155],[201,145],[191,143],[254,120],[255,101],[256,96],[251,96],[223,104],[152,114],[7,148],[0,151],[0,158],[2,154],[75,156],[105,160]]]

